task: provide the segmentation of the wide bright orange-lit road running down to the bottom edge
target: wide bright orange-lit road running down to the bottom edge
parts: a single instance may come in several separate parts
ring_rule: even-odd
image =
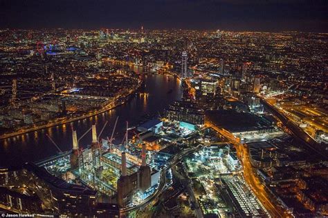
[[[264,208],[266,208],[266,210],[270,213],[270,215],[272,217],[288,217],[286,211],[277,206],[277,203],[274,202],[272,197],[268,195],[264,185],[261,183],[261,181],[259,181],[259,178],[255,174],[253,167],[250,164],[250,154],[246,145],[240,143],[239,138],[235,137],[232,133],[228,132],[227,130],[218,128],[214,124],[210,123],[210,121],[206,122],[206,126],[210,126],[215,131],[219,132],[219,134],[226,137],[229,142],[235,146],[239,161],[242,163],[244,168],[244,179],[246,183],[248,186],[250,186],[256,197],[259,199]]]

